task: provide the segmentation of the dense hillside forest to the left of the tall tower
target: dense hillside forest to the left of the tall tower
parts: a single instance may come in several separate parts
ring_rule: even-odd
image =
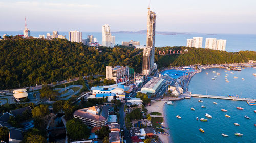
[[[87,47],[65,39],[8,39],[0,41],[0,89],[104,75],[108,65],[142,70],[141,50],[133,47]]]

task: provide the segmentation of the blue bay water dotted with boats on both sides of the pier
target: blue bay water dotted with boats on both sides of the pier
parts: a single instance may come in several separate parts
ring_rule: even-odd
[[[217,72],[220,75],[217,75]],[[207,91],[207,95],[227,96],[229,94],[256,99],[256,77],[252,75],[253,73],[256,73],[254,68],[227,72],[221,68],[203,69],[202,72],[192,77],[188,91],[195,94],[206,94]],[[234,78],[234,76],[238,78]],[[230,82],[225,82],[225,78]],[[203,102],[198,102],[199,99]],[[213,102],[218,104],[213,104]],[[173,103],[174,105],[165,104],[164,106],[165,120],[170,128],[169,133],[173,142],[256,142],[256,126],[254,126],[256,113],[253,112],[256,110],[255,105],[250,106],[245,101],[196,97],[173,101]],[[201,108],[202,105],[206,108]],[[236,108],[238,106],[243,107],[244,110],[238,110]],[[194,107],[195,111],[191,110],[191,107]],[[221,109],[226,109],[227,112],[222,112]],[[205,117],[206,113],[210,114],[212,118]],[[231,117],[225,117],[226,114]],[[182,118],[178,119],[176,115]],[[250,119],[246,119],[245,115]],[[209,120],[201,122],[196,120],[196,117]],[[236,126],[234,123],[238,123],[240,126]],[[200,132],[200,128],[205,133]],[[234,135],[236,132],[242,133],[243,136]],[[229,137],[222,136],[222,133]]]

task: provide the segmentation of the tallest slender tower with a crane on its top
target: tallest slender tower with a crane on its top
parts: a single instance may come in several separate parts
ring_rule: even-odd
[[[146,48],[143,49],[142,74],[149,75],[154,70],[155,61],[155,32],[156,31],[156,13],[147,11],[147,32]]]

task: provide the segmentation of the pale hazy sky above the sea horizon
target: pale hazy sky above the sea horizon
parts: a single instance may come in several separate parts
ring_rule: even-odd
[[[0,0],[0,31],[145,30],[148,0]],[[156,31],[256,34],[255,0],[151,0]]]

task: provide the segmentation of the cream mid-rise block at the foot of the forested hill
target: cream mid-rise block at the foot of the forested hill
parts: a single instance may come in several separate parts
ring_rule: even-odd
[[[128,66],[106,66],[106,79],[113,79],[114,81],[116,81],[116,83],[126,82],[128,73]]]

